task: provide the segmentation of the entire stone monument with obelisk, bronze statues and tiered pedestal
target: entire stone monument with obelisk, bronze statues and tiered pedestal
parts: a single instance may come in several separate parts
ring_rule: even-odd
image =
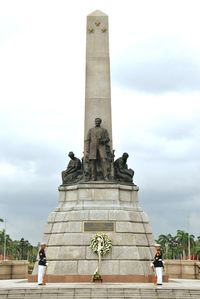
[[[128,154],[114,161],[108,17],[100,11],[87,20],[84,130],[84,159],[69,153],[58,207],[43,235],[47,281],[86,282],[98,271],[103,281],[150,281],[154,238],[149,220],[139,206]],[[103,239],[98,239],[98,255],[90,246],[97,233],[112,240],[112,249],[102,257]],[[29,281],[36,280],[36,273],[37,265]]]

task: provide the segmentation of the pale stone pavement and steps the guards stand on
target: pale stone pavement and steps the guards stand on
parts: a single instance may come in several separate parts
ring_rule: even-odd
[[[200,299],[200,281],[171,279],[152,283],[48,283],[0,280],[0,299]]]

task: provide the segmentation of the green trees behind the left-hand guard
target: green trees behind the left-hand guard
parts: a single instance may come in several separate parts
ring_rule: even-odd
[[[38,246],[31,245],[28,240],[24,238],[12,240],[9,235],[5,236],[5,230],[0,230],[0,260],[3,260],[5,255],[5,259],[28,260],[30,263],[34,263],[37,252]]]

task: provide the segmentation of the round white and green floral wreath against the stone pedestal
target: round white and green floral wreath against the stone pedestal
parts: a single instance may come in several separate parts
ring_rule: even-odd
[[[99,239],[102,240],[102,246],[99,250]],[[112,240],[107,234],[97,233],[90,241],[90,248],[94,253],[100,253],[101,256],[106,255],[112,248]]]

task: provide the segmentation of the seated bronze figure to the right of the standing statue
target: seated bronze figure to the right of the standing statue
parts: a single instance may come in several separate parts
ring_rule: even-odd
[[[129,168],[127,165],[127,159],[129,155],[127,153],[123,153],[122,157],[118,158],[114,162],[114,176],[115,180],[120,182],[133,182],[134,171]]]

